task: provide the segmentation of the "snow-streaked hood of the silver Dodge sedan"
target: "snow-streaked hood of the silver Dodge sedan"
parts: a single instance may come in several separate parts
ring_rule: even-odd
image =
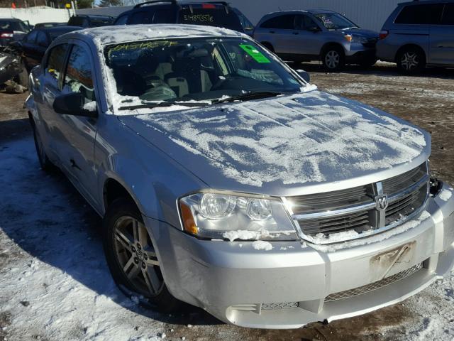
[[[219,190],[267,195],[341,190],[409,171],[426,161],[431,149],[426,131],[317,90],[148,110],[118,119],[207,188]]]

